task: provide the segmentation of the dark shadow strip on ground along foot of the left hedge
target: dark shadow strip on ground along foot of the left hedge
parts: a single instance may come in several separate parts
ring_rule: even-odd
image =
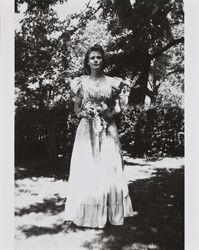
[[[47,159],[18,161],[15,166],[15,180],[32,177],[53,177],[55,180],[68,180],[70,159],[59,158],[54,167]]]

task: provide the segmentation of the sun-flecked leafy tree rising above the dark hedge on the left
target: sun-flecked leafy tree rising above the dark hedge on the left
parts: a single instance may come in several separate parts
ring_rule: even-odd
[[[21,91],[17,106],[49,108],[69,88],[70,32],[69,21],[63,25],[52,9],[35,9],[22,20],[15,39],[15,86]]]

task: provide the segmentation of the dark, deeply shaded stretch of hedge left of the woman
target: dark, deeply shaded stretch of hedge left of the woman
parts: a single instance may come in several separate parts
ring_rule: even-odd
[[[59,102],[43,112],[36,108],[17,109],[16,159],[43,155],[53,166],[58,155],[70,158],[77,124],[72,101]]]

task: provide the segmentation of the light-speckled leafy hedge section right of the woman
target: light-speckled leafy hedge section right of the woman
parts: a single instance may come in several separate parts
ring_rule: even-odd
[[[128,107],[120,117],[122,148],[137,157],[183,156],[184,112],[178,106]]]

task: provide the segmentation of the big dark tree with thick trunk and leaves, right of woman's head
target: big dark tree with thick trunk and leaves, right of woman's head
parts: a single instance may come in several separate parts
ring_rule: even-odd
[[[184,41],[183,1],[99,0],[98,3],[113,36],[108,46],[113,52],[109,58],[111,74],[139,76],[129,95],[130,105],[143,104],[146,95],[154,99],[159,86],[156,84],[157,68],[161,82],[168,73],[167,68],[177,65],[175,54],[178,54],[181,62],[175,72],[183,69],[183,49],[176,46]],[[158,65],[155,70],[154,65]],[[148,89],[149,77],[154,79],[152,91]]]

